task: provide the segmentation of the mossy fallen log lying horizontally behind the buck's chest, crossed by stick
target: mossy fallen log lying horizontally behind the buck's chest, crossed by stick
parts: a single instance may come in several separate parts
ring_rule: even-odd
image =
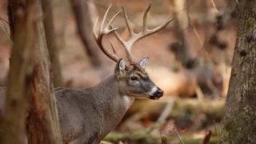
[[[137,116],[130,117],[134,121],[140,118],[150,116],[158,117],[166,106],[166,98],[159,101],[138,100],[128,110],[126,117],[136,114]],[[189,110],[193,114],[214,115],[214,117],[222,118],[224,116],[225,100],[216,101],[198,101],[197,98],[178,98],[174,97],[174,107],[170,112],[170,117],[176,118]],[[151,117],[152,118],[152,117]]]

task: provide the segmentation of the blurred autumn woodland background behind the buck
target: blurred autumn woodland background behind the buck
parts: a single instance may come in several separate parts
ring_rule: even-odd
[[[132,49],[136,61],[150,58],[146,70],[164,90],[164,97],[134,102],[105,141],[202,143],[211,130],[210,143],[217,143],[236,38],[234,4],[228,0],[54,0],[61,67],[56,87],[95,86],[114,74],[115,63],[102,54],[91,33],[95,19],[99,15],[101,22],[111,3],[114,6],[109,15],[124,6],[135,32],[140,32],[143,10],[150,3],[149,28],[170,17],[174,21],[135,43]],[[6,86],[12,45],[6,5],[6,1],[0,1],[0,86]],[[129,39],[123,14],[119,14],[113,26],[120,27],[118,33]],[[103,45],[110,48],[110,39],[122,55],[123,48],[114,35],[104,38]]]

